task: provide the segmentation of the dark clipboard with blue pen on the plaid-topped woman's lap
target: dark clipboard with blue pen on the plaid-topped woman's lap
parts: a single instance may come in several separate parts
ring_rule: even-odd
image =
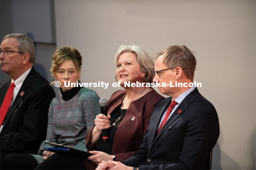
[[[47,148],[44,148],[43,150],[47,150],[47,151],[51,151],[51,152],[67,154],[67,155],[83,157],[83,158],[87,158],[89,156],[94,155],[94,154],[91,154],[90,152],[79,150],[79,149],[76,149],[76,148],[73,148],[70,146],[61,145],[59,143],[53,143],[53,142],[48,142],[48,141],[45,141],[45,143],[53,146],[53,148],[47,147]]]

